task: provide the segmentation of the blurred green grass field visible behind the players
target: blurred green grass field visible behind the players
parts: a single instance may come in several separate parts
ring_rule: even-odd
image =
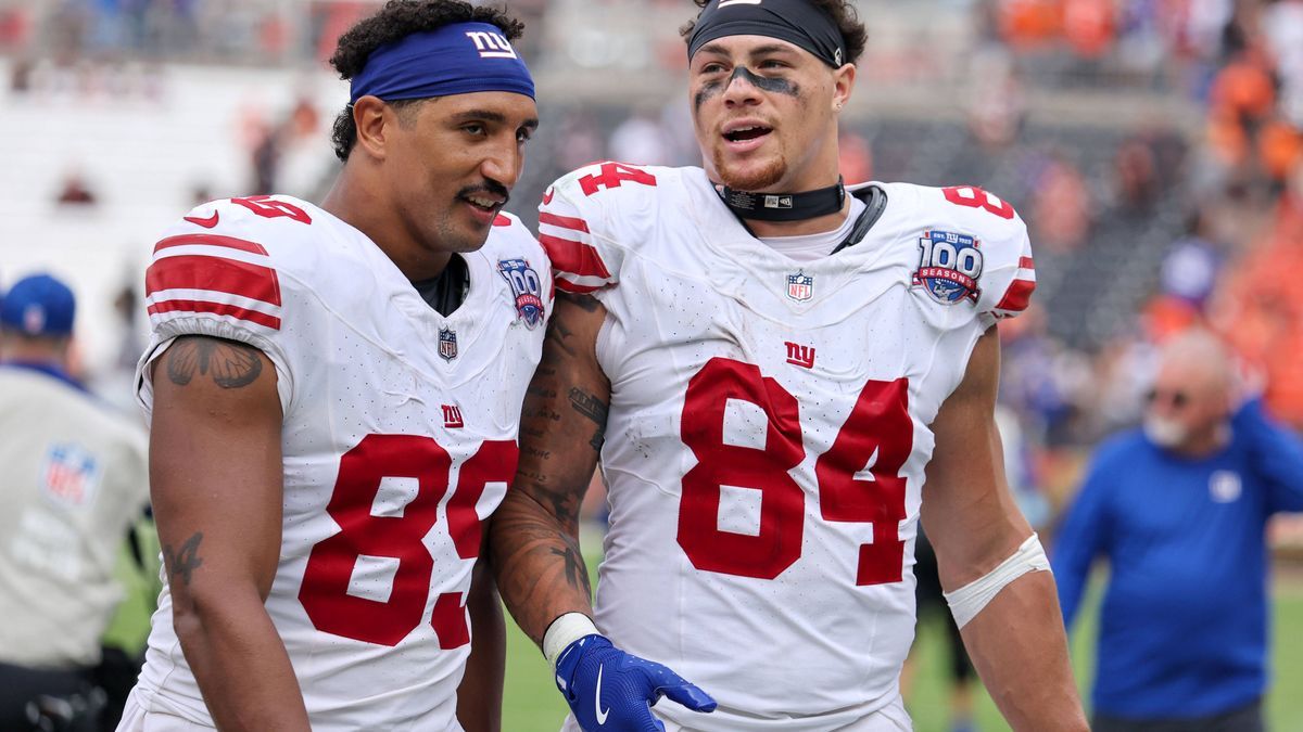
[[[585,542],[588,546],[589,542]],[[156,556],[158,547],[146,547]],[[589,560],[595,569],[597,560]],[[125,554],[120,559],[120,572],[128,585],[126,599],[109,637],[126,647],[143,643],[149,629],[151,593],[155,580],[130,567]],[[595,572],[594,572],[595,574]],[[594,577],[595,584],[595,577]],[[1303,580],[1278,580],[1274,593],[1273,630],[1273,684],[1267,709],[1270,729],[1286,732],[1303,729]],[[1095,624],[1098,613],[1098,584],[1081,608],[1081,620],[1072,637],[1072,660],[1083,698],[1088,698],[1089,680],[1095,667]],[[907,699],[917,732],[947,732],[945,668],[946,654],[942,626],[934,619],[919,628],[915,688]],[[507,620],[507,683],[503,692],[503,729],[506,732],[556,732],[566,716],[566,703],[552,684],[551,672],[542,654]],[[977,728],[982,732],[1009,729],[995,705],[985,693],[977,698]]]

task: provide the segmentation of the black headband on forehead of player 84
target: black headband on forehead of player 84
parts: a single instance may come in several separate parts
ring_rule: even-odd
[[[834,69],[848,59],[833,18],[808,0],[710,0],[688,39],[688,61],[706,43],[727,35],[764,35],[794,43]]]

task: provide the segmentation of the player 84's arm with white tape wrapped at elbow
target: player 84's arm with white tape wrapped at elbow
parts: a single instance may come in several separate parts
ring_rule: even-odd
[[[932,425],[923,522],[964,645],[1012,728],[1088,729],[1054,578],[1040,570],[1044,552],[1005,479],[998,380],[999,340],[989,328]]]

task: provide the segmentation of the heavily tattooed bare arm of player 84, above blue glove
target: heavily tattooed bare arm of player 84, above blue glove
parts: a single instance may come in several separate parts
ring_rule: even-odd
[[[520,418],[520,466],[490,525],[498,589],[536,643],[560,615],[593,615],[579,508],[611,400],[594,350],[605,318],[594,298],[556,293],[543,358]]]

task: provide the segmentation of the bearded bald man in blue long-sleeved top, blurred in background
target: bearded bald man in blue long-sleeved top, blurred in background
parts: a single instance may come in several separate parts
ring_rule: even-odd
[[[1065,518],[1052,564],[1070,626],[1092,561],[1109,560],[1096,732],[1263,729],[1264,531],[1303,511],[1303,442],[1234,392],[1225,346],[1179,336],[1144,429],[1100,447]]]

